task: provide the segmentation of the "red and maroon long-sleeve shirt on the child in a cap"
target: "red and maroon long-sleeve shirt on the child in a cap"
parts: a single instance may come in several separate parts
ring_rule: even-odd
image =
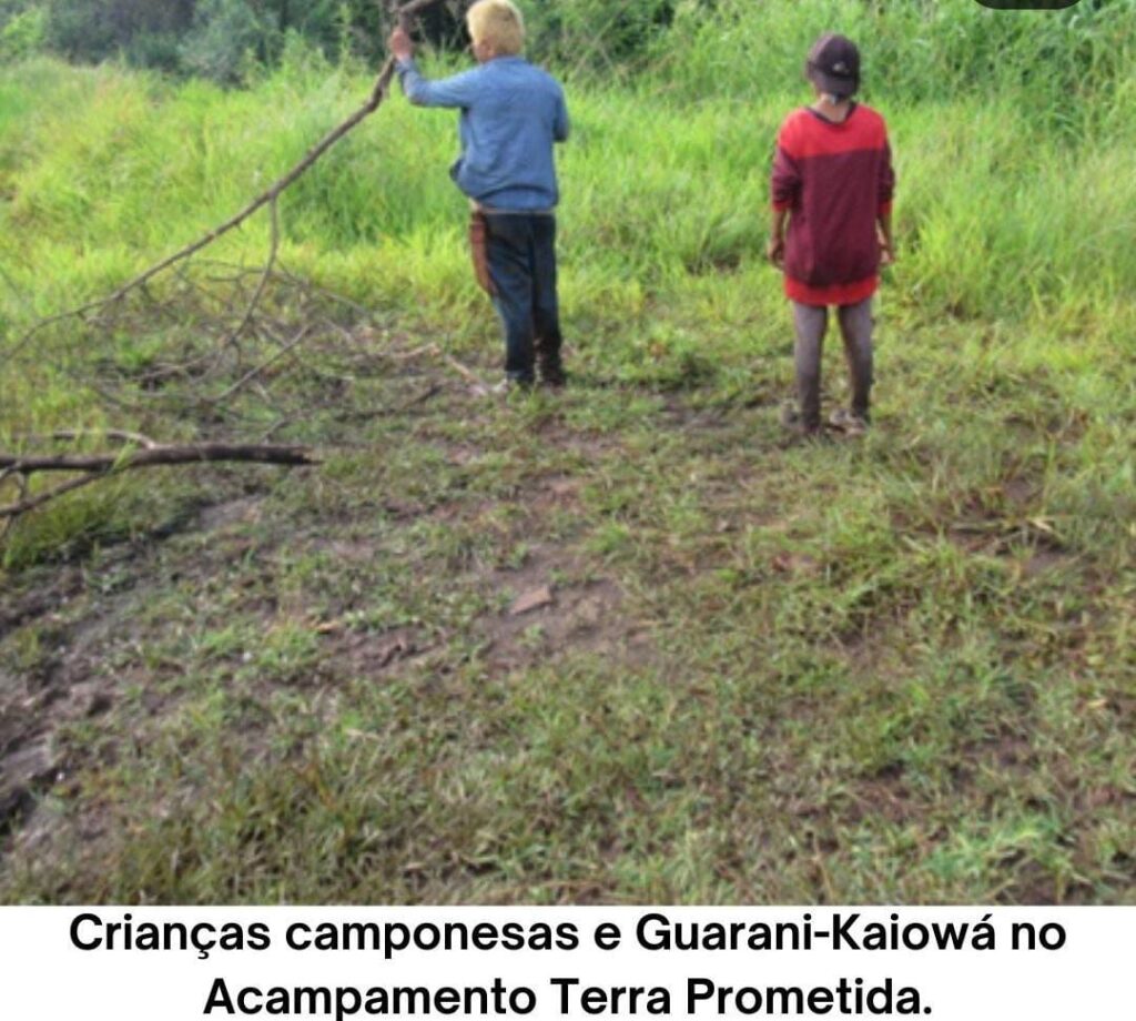
[[[876,221],[895,175],[884,118],[854,106],[840,124],[794,110],[777,135],[772,204],[788,209],[785,293],[803,305],[854,305],[876,292]]]

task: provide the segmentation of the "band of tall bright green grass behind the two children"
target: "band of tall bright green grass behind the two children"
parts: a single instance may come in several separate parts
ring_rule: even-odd
[[[1131,65],[1093,85],[1091,97],[1049,103],[1029,82],[1000,86],[1010,75],[1003,65],[1028,63],[1025,43],[1016,42],[988,78],[988,93],[957,89],[947,74],[953,58],[942,50],[953,38],[947,10],[970,35],[983,18],[1008,16],[969,0],[910,7],[888,8],[885,18],[864,5],[817,0],[795,5],[787,18],[779,5],[747,7],[745,16],[727,6],[636,88],[570,90],[576,131],[561,158],[569,310],[586,315],[599,294],[610,293],[634,307],[644,293],[755,267],[772,139],[786,110],[805,98],[799,78],[805,40],[816,26],[834,23],[870,40],[868,96],[892,125],[902,259],[891,293],[897,300],[929,316],[1004,316],[1038,302],[1112,301],[1131,291]],[[1116,6],[1086,17],[1081,45],[1121,31]],[[1072,32],[1068,18],[1061,24]],[[921,38],[904,34],[920,26]],[[895,51],[901,38],[902,53]],[[760,72],[752,66],[755,52]],[[743,53],[751,56],[743,60]],[[977,64],[958,72],[977,73]],[[366,88],[361,73],[318,63],[229,92],[110,67],[39,61],[7,69],[0,78],[7,199],[0,314],[25,322],[106,289],[225,217],[298,159]],[[1075,146],[1038,122],[1039,110],[1058,107],[1075,108],[1084,128]],[[450,115],[392,101],[287,193],[285,258],[375,300],[396,300],[408,287],[416,306],[440,312],[459,294],[470,300],[454,244],[461,199],[445,175],[454,148]],[[228,242],[227,254],[251,258],[265,239],[265,225],[251,226]],[[758,291],[776,292],[771,275],[761,281]]]

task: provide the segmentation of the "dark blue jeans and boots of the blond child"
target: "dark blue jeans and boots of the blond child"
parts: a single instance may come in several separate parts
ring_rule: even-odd
[[[557,221],[553,216],[486,213],[486,258],[496,288],[493,305],[504,331],[506,375],[562,383],[557,302]],[[534,357],[535,356],[535,357]]]

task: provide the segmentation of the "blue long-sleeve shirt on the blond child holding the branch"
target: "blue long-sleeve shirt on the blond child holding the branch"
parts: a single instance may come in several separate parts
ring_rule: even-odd
[[[563,90],[523,57],[495,57],[436,82],[414,60],[399,61],[402,91],[416,106],[461,110],[461,155],[450,168],[458,188],[491,209],[550,210],[560,198],[554,142],[568,138]]]

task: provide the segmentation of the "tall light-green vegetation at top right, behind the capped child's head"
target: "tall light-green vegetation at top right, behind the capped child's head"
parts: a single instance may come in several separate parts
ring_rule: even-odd
[[[1080,0],[1063,11],[997,11],[974,0],[722,0],[708,15],[679,5],[655,41],[654,77],[695,96],[761,96],[800,80],[821,32],[863,44],[867,94],[943,101],[1020,98],[1051,125],[1075,123],[1084,100],[1108,99],[1136,51],[1133,0]]]

